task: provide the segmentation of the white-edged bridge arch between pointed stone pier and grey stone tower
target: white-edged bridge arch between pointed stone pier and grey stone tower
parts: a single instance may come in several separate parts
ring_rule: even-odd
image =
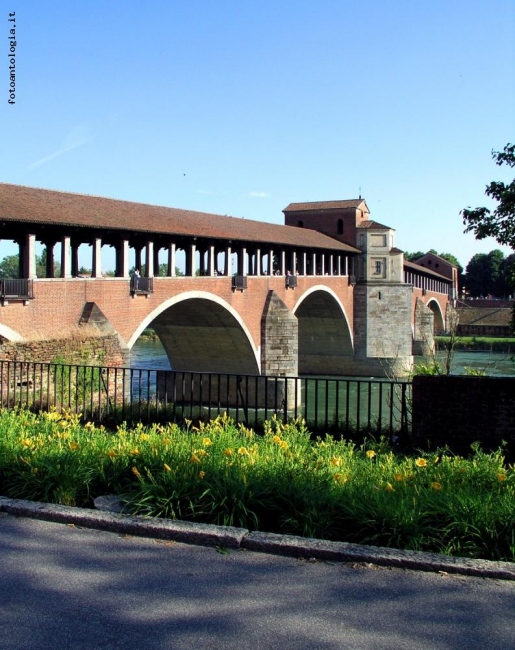
[[[293,313],[299,326],[299,374],[347,374],[354,353],[352,328],[336,293],[323,285],[311,287]]]

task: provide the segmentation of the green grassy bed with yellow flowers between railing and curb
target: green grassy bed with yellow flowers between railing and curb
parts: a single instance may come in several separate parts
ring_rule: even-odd
[[[502,453],[395,453],[315,438],[302,422],[263,435],[227,416],[118,427],[73,414],[0,411],[0,494],[277,533],[515,561],[515,472]]]

